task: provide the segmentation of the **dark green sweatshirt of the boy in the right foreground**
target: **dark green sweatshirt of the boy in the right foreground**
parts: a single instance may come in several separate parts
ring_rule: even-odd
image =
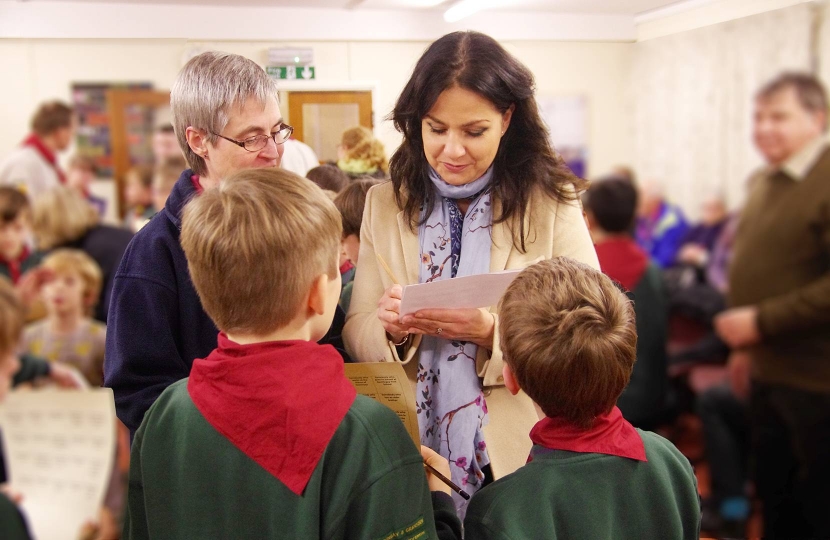
[[[689,461],[637,430],[647,462],[534,447],[533,461],[473,497],[474,540],[697,540],[700,499]]]

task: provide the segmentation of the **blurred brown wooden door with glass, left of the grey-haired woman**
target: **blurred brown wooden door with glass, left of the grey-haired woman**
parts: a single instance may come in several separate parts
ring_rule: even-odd
[[[170,106],[170,92],[157,90],[115,89],[107,91],[107,113],[110,118],[110,144],[118,216],[123,219],[124,176],[135,165],[151,164],[149,140],[154,125],[153,111]]]

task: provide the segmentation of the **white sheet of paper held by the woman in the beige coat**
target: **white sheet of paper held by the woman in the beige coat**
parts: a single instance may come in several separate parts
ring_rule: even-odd
[[[496,305],[519,272],[521,270],[505,270],[407,285],[401,296],[401,317],[422,309],[464,309]]]

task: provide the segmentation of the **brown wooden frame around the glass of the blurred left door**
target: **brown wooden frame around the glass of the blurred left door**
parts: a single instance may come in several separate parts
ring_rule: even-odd
[[[128,105],[162,107],[170,105],[170,92],[153,89],[107,90],[107,116],[110,128],[110,150],[112,151],[112,176],[115,181],[116,213],[124,218],[124,176],[132,167],[130,147],[127,142],[127,124],[124,110]]]

